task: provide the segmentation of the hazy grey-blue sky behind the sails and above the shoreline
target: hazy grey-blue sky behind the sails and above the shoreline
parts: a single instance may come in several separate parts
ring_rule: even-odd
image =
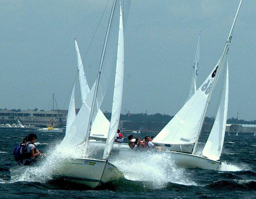
[[[0,1],[0,108],[50,110],[54,93],[59,109],[67,109],[76,78],[74,38],[84,58],[106,4],[107,0]],[[132,0],[124,16],[122,113],[176,114],[188,96],[199,32],[201,85],[221,56],[238,4],[239,0]],[[255,4],[242,3],[228,52],[228,118],[239,112],[239,119],[256,119]],[[90,87],[97,76],[110,6],[84,60]],[[112,98],[110,88],[102,111],[111,111]],[[78,87],[76,100],[79,108]]]

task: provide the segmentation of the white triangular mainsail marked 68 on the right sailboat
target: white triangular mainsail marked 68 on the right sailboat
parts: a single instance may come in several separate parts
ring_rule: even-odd
[[[199,87],[195,94],[184,104],[180,111],[156,135],[156,144],[194,144],[200,131],[208,95],[212,89],[215,74],[219,69],[219,62]]]

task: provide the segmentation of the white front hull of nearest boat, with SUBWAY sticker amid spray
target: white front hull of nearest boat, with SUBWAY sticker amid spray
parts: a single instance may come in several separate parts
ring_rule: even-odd
[[[123,176],[112,163],[89,158],[64,160],[56,174],[60,179],[83,184],[90,188],[96,188]]]

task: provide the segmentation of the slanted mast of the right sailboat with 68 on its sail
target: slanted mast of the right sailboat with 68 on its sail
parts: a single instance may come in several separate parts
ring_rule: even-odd
[[[213,80],[212,89],[210,90],[210,93],[209,93],[208,99],[207,99],[207,103],[206,103],[205,108],[204,108],[204,114],[203,114],[202,122],[201,122],[200,128],[199,128],[200,130],[199,130],[199,133],[198,133],[197,136],[196,136],[196,142],[195,142],[195,146],[194,146],[194,148],[193,148],[192,154],[195,154],[195,153],[196,153],[196,147],[197,147],[197,143],[198,143],[198,139],[199,139],[200,133],[201,133],[202,128],[203,128],[203,123],[204,123],[204,117],[205,117],[205,115],[206,115],[206,110],[207,110],[207,108],[208,108],[208,106],[209,106],[209,101],[210,101],[210,98],[211,98],[211,95],[212,95],[212,91],[213,91],[213,89],[214,89],[214,87],[215,87],[215,85],[216,85],[216,79],[217,79],[217,77],[219,76],[219,71],[220,71],[220,67],[221,67],[221,63],[222,63],[223,57],[224,57],[225,53],[227,53],[226,51],[228,51],[228,50],[227,50],[227,47],[228,47],[228,44],[230,43],[230,40],[231,40],[231,33],[232,33],[233,27],[234,27],[234,25],[235,25],[236,17],[237,17],[238,11],[239,11],[239,9],[240,9],[240,6],[241,6],[241,4],[242,4],[242,1],[243,1],[243,0],[240,0],[240,3],[239,3],[239,5],[238,5],[237,11],[236,11],[236,16],[235,16],[235,18],[234,18],[234,21],[233,21],[233,23],[232,23],[231,29],[230,29],[230,31],[229,31],[228,39],[227,39],[227,41],[226,41],[226,44],[225,44],[223,53],[222,53],[222,55],[221,55],[221,57],[220,57],[219,65],[217,66],[217,67],[218,67],[218,70],[217,70],[217,68],[216,68],[216,70],[217,70],[217,71],[216,71],[216,75],[215,75],[215,78],[214,78],[214,80]]]

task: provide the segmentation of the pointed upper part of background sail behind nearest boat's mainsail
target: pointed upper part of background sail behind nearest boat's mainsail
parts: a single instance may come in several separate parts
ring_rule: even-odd
[[[75,46],[76,46],[76,60],[77,60],[77,71],[78,71],[78,76],[79,76],[79,83],[80,83],[80,91],[81,91],[81,98],[82,98],[82,103],[85,103],[85,99],[90,92],[90,88],[87,83],[87,79],[84,73],[84,66],[83,66],[83,61],[81,59],[81,55],[79,52],[79,48],[75,39]]]

